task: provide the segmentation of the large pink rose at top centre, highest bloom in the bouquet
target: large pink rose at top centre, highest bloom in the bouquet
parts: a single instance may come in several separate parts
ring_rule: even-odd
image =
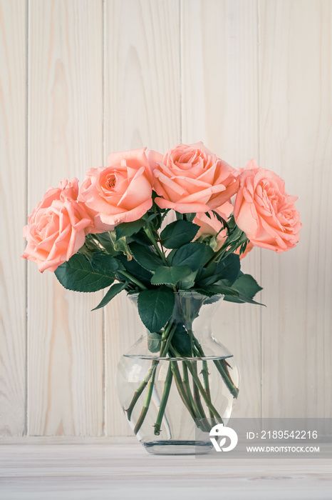
[[[154,175],[154,189],[162,209],[181,214],[216,209],[237,193],[237,171],[219,159],[202,142],[180,144],[164,157],[148,151]]]

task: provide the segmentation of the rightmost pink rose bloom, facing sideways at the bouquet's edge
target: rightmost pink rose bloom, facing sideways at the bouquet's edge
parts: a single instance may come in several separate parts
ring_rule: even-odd
[[[251,160],[239,176],[234,219],[255,246],[276,252],[294,248],[302,224],[294,202],[285,192],[284,181]]]

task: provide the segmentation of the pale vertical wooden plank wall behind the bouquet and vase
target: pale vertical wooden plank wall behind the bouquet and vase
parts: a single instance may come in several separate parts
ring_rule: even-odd
[[[112,151],[204,141],[280,174],[304,229],[244,261],[258,306],[222,304],[236,416],[332,416],[331,0],[0,0],[0,436],[126,436],[113,379],[140,333],[119,296],[65,291],[19,255],[49,186]],[[32,439],[32,437],[31,437]]]

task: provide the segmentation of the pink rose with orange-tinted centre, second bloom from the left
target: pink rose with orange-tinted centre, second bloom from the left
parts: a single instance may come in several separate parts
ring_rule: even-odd
[[[145,149],[113,153],[108,167],[88,170],[78,199],[116,226],[140,219],[152,206],[152,178]]]

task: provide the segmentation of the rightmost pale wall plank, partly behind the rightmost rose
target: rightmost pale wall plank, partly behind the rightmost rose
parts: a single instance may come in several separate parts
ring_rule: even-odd
[[[265,416],[332,416],[331,1],[260,2],[261,164],[299,195],[296,249],[262,252]]]

